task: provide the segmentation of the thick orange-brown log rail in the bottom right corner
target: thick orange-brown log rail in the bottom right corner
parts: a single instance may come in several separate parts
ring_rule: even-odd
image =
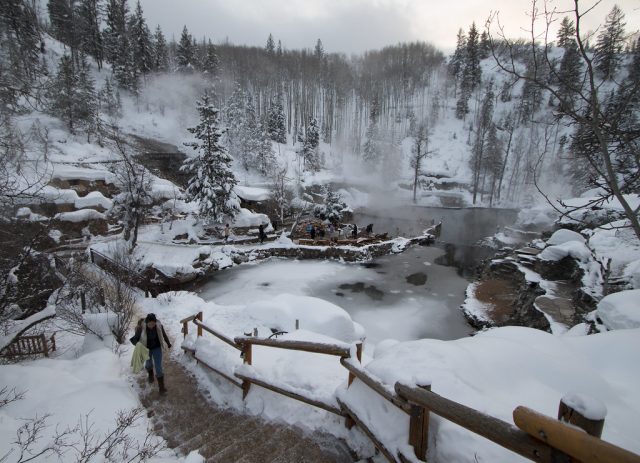
[[[513,411],[513,421],[530,436],[583,463],[640,462],[639,455],[527,407],[517,407]]]

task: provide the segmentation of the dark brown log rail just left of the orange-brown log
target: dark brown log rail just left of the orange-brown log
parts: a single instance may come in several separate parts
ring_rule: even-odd
[[[519,430],[506,421],[481,413],[471,407],[442,397],[435,392],[400,383],[396,393],[411,403],[421,405],[452,423],[489,439],[533,461],[563,461],[561,452]]]

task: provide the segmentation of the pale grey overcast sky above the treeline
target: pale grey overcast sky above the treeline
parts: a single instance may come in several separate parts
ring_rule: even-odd
[[[130,0],[134,9],[135,0]],[[285,48],[312,48],[322,39],[327,52],[362,52],[403,41],[424,40],[449,53],[460,27],[481,28],[492,10],[500,12],[510,36],[530,28],[529,0],[141,0],[149,27],[180,38],[183,25],[215,43],[263,46],[269,33]],[[581,2],[584,6],[593,2]],[[640,0],[603,0],[590,13],[594,29],[617,3],[627,31],[640,28]],[[573,2],[550,2],[558,9]]]

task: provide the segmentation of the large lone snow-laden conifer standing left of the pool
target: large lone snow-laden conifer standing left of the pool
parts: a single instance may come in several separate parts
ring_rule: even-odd
[[[201,216],[222,222],[225,216],[233,217],[240,209],[233,191],[238,181],[231,171],[232,159],[220,143],[219,111],[206,93],[198,101],[197,109],[200,123],[188,130],[198,141],[185,143],[196,155],[187,158],[181,168],[190,174],[186,195],[198,202]]]

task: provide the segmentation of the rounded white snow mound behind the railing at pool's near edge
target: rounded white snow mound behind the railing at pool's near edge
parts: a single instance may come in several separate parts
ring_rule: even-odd
[[[300,328],[340,341],[357,339],[349,314],[335,304],[308,296],[280,294],[268,301],[249,304],[246,313],[258,322],[274,329],[293,331],[296,320]]]

